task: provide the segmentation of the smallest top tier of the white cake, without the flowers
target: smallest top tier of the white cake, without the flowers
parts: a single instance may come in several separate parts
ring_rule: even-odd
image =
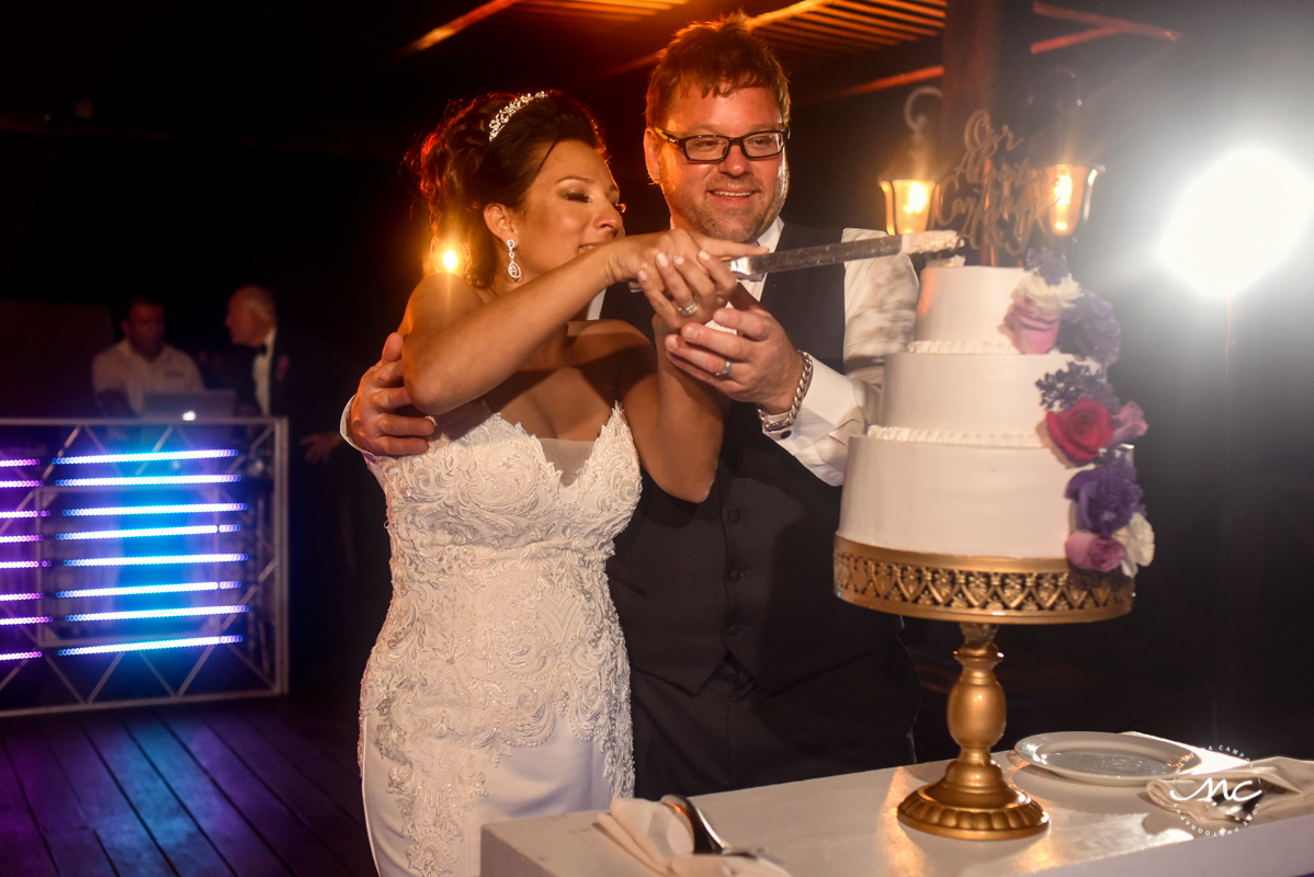
[[[1005,352],[1004,315],[1025,268],[928,268],[921,273],[917,327],[909,351]]]

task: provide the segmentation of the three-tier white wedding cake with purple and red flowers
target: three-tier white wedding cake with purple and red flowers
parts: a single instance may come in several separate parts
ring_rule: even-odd
[[[922,272],[915,340],[886,360],[880,421],[849,446],[838,536],[933,555],[1067,558],[1134,572],[1152,534],[1105,378],[1112,309],[1060,260]]]

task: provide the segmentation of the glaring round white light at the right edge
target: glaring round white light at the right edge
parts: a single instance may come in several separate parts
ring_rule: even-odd
[[[1286,260],[1314,209],[1314,179],[1271,147],[1246,146],[1190,182],[1168,218],[1159,259],[1206,295],[1239,293]]]

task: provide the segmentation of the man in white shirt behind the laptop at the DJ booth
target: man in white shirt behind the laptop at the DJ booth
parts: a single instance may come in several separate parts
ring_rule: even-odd
[[[200,393],[201,370],[183,351],[164,343],[164,307],[134,297],[120,323],[124,340],[91,362],[96,403],[110,417],[141,416],[147,393]]]

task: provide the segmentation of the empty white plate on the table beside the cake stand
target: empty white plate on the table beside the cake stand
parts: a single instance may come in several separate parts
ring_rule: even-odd
[[[1020,740],[1014,751],[1035,767],[1099,785],[1144,785],[1200,764],[1198,755],[1176,743],[1099,731],[1037,734]]]

